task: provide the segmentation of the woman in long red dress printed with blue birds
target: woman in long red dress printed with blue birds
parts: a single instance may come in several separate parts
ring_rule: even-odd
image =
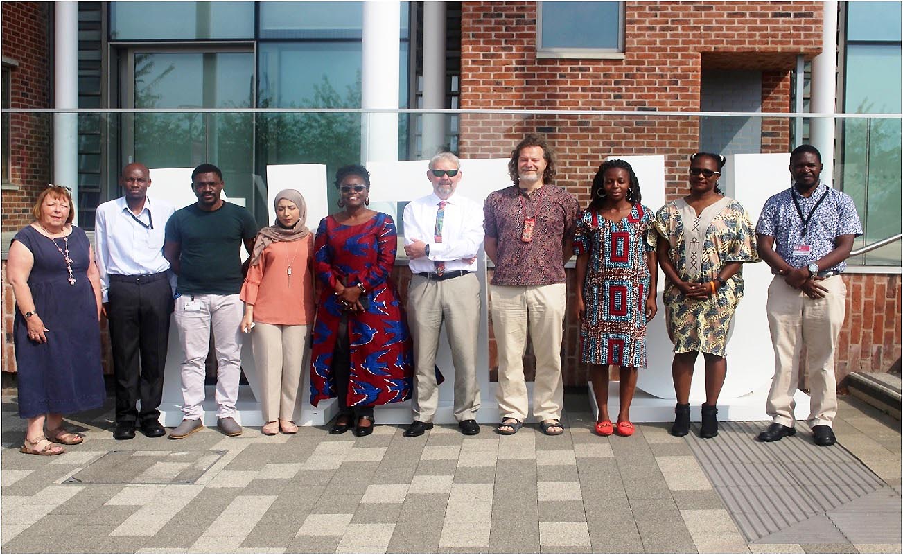
[[[314,241],[321,284],[313,328],[311,403],[339,398],[330,433],[373,431],[373,407],[411,395],[414,356],[405,315],[389,282],[397,235],[392,217],[367,208],[370,174],[336,172],[343,212],[324,217]]]

